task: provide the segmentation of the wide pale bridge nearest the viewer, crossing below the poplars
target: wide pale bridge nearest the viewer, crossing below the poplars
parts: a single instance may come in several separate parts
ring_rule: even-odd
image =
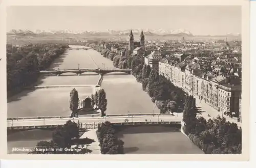
[[[33,130],[33,129],[53,129],[58,125],[64,125],[68,120],[77,122],[81,128],[91,129],[97,128],[99,123],[110,121],[117,125],[158,125],[158,124],[181,124],[182,116],[172,115],[152,115],[152,114],[137,114],[137,115],[113,115],[107,117],[79,117],[70,118],[68,116],[56,117],[30,117],[7,119],[7,129],[18,130]]]

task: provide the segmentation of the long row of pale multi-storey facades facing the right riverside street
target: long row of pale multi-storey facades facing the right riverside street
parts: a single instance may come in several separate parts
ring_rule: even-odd
[[[159,74],[218,110],[220,115],[241,116],[241,85],[238,76],[203,73],[197,60],[186,64],[172,63],[167,59],[159,61]]]

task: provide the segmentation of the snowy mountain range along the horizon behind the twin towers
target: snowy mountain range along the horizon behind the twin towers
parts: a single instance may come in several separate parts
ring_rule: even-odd
[[[134,35],[139,35],[141,33],[141,29],[133,29]],[[93,36],[121,36],[121,35],[129,35],[131,30],[122,30],[122,31],[115,31],[115,30],[106,30],[106,31],[71,31],[71,30],[11,30],[7,32],[7,35],[16,35],[16,36],[53,36],[53,35],[93,35]],[[144,29],[143,33],[147,36],[194,36],[191,32],[185,29],[178,29],[178,30],[164,30],[164,29]],[[209,36],[209,35],[208,35]],[[222,36],[240,36],[240,34],[231,34],[228,33],[227,35]]]

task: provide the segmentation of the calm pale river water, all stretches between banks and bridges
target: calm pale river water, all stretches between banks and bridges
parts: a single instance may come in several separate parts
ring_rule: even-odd
[[[112,61],[90,49],[67,50],[65,54],[54,61],[49,69],[77,69],[78,67],[114,68]],[[8,100],[7,117],[70,115],[70,91],[75,88],[78,91],[79,99],[82,100],[93,93],[98,79],[98,74],[90,72],[80,76],[72,73],[60,76],[42,76],[36,89],[26,90]],[[154,106],[150,96],[142,90],[141,83],[138,83],[132,75],[125,73],[104,75],[101,88],[105,90],[108,99],[106,110],[108,115],[159,114],[159,109]],[[154,130],[154,128],[149,129]],[[165,128],[164,132],[143,133],[145,128],[141,128],[143,129],[141,133],[134,133],[133,129],[120,132],[125,143],[126,153],[202,153],[181,132]],[[12,153],[12,149],[17,147],[33,148],[39,141],[50,140],[51,134],[52,131],[48,130],[21,131],[9,134],[7,137],[8,153]],[[172,146],[176,146],[176,148],[172,150]],[[179,148],[181,146],[182,148]]]

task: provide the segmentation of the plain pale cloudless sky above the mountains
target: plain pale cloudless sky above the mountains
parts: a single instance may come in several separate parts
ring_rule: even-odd
[[[7,31],[185,29],[193,35],[241,33],[239,6],[16,6]]]

